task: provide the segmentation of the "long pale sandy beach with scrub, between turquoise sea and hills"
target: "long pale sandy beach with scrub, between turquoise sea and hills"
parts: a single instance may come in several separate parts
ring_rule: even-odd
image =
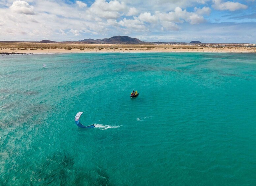
[[[256,52],[242,45],[201,46],[170,44],[84,44],[0,42],[0,53],[88,53],[88,52]]]

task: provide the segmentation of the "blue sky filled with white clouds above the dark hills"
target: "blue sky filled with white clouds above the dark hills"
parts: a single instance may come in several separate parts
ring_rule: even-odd
[[[255,0],[0,0],[0,40],[256,43]]]

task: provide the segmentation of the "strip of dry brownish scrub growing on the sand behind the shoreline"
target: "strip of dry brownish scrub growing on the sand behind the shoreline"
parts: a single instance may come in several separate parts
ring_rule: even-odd
[[[111,44],[111,45],[104,45],[104,44],[73,44],[73,43],[19,43],[19,42],[1,42],[0,43],[0,50],[45,50],[45,49],[77,49],[77,50],[143,50],[143,51],[150,51],[150,50],[181,50],[181,51],[190,51],[194,49],[198,50],[205,50],[205,51],[248,51],[248,52],[255,52],[256,48],[249,48],[244,47],[241,44],[237,45],[211,45],[207,44],[204,46],[188,46],[188,45],[153,45],[153,44]],[[237,49],[237,50],[235,50]]]

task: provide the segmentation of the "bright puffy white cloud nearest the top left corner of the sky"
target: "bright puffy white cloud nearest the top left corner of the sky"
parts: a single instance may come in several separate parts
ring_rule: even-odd
[[[35,14],[34,8],[30,6],[26,1],[14,1],[10,6],[10,10],[16,13],[24,13],[24,14]]]

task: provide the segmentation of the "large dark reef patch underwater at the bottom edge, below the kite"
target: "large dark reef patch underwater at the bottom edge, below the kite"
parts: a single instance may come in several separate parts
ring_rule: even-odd
[[[67,152],[55,152],[47,156],[45,161],[33,172],[31,184],[42,185],[110,185],[108,175],[96,168],[86,170],[84,166],[75,166],[75,159]]]

